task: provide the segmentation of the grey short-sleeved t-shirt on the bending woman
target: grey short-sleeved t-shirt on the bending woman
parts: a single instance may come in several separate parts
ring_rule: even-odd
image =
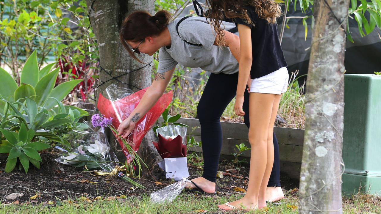
[[[198,68],[211,73],[232,74],[238,72],[238,62],[228,47],[213,45],[216,39],[215,31],[206,18],[194,16],[182,21],[179,34],[182,39],[202,46],[189,45],[176,32],[176,24],[181,18],[170,22],[168,26],[171,35],[171,47],[159,50],[157,72],[164,73],[173,69],[177,64]],[[225,30],[235,27],[234,23],[223,22]],[[238,35],[238,32],[235,33]]]

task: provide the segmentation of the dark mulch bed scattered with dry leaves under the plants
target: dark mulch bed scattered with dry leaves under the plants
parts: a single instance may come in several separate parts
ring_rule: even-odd
[[[91,172],[83,171],[83,168],[56,163],[51,153],[43,153],[41,156],[43,159],[41,169],[36,169],[30,164],[27,174],[23,169],[16,168],[10,173],[3,172],[5,163],[0,164],[0,197],[3,204],[52,203],[51,201],[56,203],[55,201],[76,200],[78,198],[92,201],[97,196],[111,200],[150,194],[173,183],[171,180],[156,180],[150,175],[145,175],[139,180],[134,180],[146,189],[133,188],[131,184],[117,177],[105,179],[105,176],[94,176]],[[189,179],[199,177],[201,171],[202,169],[189,164],[189,174],[191,175]],[[221,163],[219,171],[224,176],[217,178],[216,191],[218,194],[230,195],[240,192],[240,188],[247,189],[247,167],[241,167],[237,170],[231,164]],[[281,177],[281,181],[284,190],[298,187],[296,180]],[[38,194],[36,194],[37,192]],[[24,195],[19,197],[16,202],[6,200],[6,196],[11,193],[23,193]],[[37,197],[31,199],[35,195]]]

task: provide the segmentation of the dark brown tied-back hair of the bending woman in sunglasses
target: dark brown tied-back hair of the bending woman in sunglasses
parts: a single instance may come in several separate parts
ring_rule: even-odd
[[[137,61],[143,63],[136,57],[126,41],[141,42],[146,37],[159,35],[171,19],[171,14],[166,10],[158,11],[151,16],[147,11],[135,11],[127,16],[119,32],[120,42],[128,53]]]

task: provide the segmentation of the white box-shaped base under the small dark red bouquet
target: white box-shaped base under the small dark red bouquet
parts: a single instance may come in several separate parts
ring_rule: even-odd
[[[187,157],[164,158],[158,165],[166,172],[166,178],[179,181],[184,177],[189,177]]]

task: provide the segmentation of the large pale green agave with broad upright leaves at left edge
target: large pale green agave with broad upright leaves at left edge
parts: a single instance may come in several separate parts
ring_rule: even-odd
[[[44,105],[46,109],[52,109],[56,102],[48,99],[49,97],[62,101],[82,81],[66,81],[54,87],[59,73],[59,67],[51,71],[54,65],[56,65],[56,62],[39,70],[37,52],[33,51],[22,68],[20,85],[16,83],[8,72],[0,68],[0,80],[2,80],[0,97],[6,98],[10,102],[22,101],[25,97],[32,97],[38,106]],[[5,102],[0,101],[0,112],[4,110],[4,107]]]

